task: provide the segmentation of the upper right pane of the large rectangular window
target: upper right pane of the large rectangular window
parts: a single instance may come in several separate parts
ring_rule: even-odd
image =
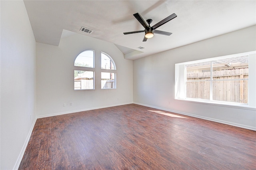
[[[215,60],[212,79],[248,79],[248,56]]]

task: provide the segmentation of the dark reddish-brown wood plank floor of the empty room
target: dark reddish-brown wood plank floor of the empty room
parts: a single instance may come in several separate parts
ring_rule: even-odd
[[[135,104],[96,109],[38,119],[19,169],[255,170],[256,131]]]

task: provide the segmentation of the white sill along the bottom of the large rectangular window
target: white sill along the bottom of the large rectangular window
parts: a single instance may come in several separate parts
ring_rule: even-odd
[[[252,107],[246,104],[236,104],[236,103],[231,103],[231,102],[218,102],[218,101],[203,101],[200,99],[175,99],[179,101],[185,101],[185,102],[192,102],[192,103],[200,103],[200,104],[206,104],[206,105],[215,105],[215,106],[222,106],[222,107],[233,107],[233,108],[238,108],[238,109],[248,109],[248,110],[253,110],[256,111],[256,107]]]

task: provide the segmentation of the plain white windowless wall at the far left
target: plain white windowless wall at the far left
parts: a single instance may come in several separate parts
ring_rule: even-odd
[[[36,42],[23,1],[1,1],[1,170],[15,168],[36,119]]]

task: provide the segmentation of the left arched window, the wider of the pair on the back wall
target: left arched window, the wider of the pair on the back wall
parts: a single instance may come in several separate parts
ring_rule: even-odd
[[[74,62],[76,70],[74,70],[74,89],[94,89],[94,50],[86,50],[80,53]]]

